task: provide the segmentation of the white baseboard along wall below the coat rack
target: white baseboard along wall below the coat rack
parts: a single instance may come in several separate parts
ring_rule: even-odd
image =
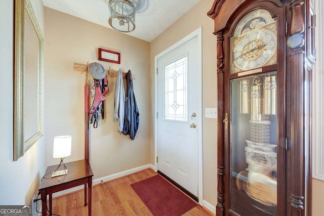
[[[102,177],[102,178],[99,178],[99,179],[92,180],[92,185],[94,186],[94,185],[100,184],[101,182],[107,182],[107,181],[110,181],[110,180],[113,180],[113,179],[118,179],[120,177],[128,176],[128,175],[131,175],[131,174],[133,174],[135,172],[138,172],[138,171],[141,171],[141,170],[144,170],[144,169],[147,169],[147,168],[152,168],[154,170],[154,166],[152,164],[146,164],[146,165],[138,166],[138,167],[135,167],[135,168],[132,168],[132,169],[122,171],[122,172],[118,172],[118,173],[112,174],[110,176],[106,176],[106,177]],[[83,189],[83,188],[84,188],[84,186],[80,185],[80,186],[77,186],[77,187],[74,187],[74,188],[70,188],[70,189],[67,189],[67,190],[64,190],[64,191],[54,193],[53,197],[61,196],[61,195],[71,193],[73,191],[77,191],[77,190],[80,190],[80,189]]]

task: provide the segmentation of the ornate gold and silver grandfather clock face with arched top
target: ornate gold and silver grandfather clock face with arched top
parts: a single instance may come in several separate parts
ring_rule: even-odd
[[[230,39],[231,73],[277,63],[277,21],[264,9],[257,9],[237,23]]]

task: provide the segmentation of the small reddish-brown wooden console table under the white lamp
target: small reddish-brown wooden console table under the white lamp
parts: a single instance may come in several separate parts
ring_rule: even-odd
[[[91,186],[93,172],[88,160],[77,160],[65,163],[68,172],[67,175],[54,178],[44,178],[39,186],[42,199],[42,215],[47,215],[47,195],[49,195],[50,216],[52,215],[52,194],[79,185],[85,185],[85,206],[89,203],[88,212],[91,215]],[[58,165],[49,166],[45,174],[52,172]],[[87,184],[88,184],[88,203],[87,203]]]

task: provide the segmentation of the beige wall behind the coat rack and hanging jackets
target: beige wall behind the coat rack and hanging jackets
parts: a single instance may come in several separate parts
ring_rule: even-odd
[[[71,156],[64,161],[84,158],[85,74],[74,72],[73,63],[98,61],[99,46],[121,53],[120,65],[100,61],[105,68],[111,66],[112,70],[118,70],[121,67],[123,72],[131,69],[136,74],[133,83],[140,124],[134,141],[118,134],[117,122],[112,121],[116,77],[109,76],[105,123],[96,129],[90,125],[90,163],[94,179],[148,164],[151,139],[149,43],[49,8],[45,8],[45,24],[45,165],[59,162],[52,156],[53,138],[59,135],[72,135]]]

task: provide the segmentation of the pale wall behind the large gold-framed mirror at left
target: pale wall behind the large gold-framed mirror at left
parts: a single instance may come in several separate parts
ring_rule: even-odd
[[[44,175],[44,136],[13,161],[13,2],[0,1],[0,205],[30,205]],[[42,0],[32,0],[44,34]]]

